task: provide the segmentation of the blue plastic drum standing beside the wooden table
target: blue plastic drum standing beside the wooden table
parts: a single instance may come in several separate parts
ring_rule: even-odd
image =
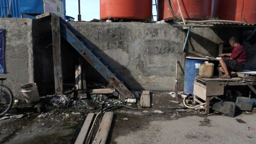
[[[198,76],[200,65],[205,61],[209,61],[208,59],[192,57],[186,58],[185,64],[185,76],[184,76],[184,93],[191,93],[193,95],[194,92],[194,80],[196,76]]]

